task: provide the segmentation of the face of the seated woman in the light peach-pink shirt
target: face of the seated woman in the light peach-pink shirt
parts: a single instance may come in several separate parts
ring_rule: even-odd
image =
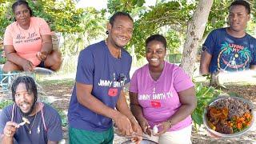
[[[25,5],[16,6],[14,16],[20,26],[30,26],[30,10]]]

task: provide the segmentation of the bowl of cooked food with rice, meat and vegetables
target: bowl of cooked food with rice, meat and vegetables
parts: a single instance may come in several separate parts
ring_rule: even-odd
[[[244,98],[219,97],[205,110],[204,123],[218,136],[243,134],[249,130],[252,122],[252,105]]]

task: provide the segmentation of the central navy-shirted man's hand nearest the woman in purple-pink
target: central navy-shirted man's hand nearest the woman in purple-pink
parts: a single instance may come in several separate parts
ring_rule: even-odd
[[[135,142],[136,144],[141,143],[142,142],[141,126],[138,125],[138,122],[136,121],[136,119],[134,117],[130,118],[130,123],[131,123],[131,126],[132,126],[134,132],[136,133],[136,134],[134,134],[134,138],[131,138],[131,141]]]

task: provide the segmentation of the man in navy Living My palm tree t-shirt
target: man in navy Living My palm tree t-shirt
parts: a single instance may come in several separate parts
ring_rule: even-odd
[[[246,1],[232,2],[228,19],[230,26],[210,32],[202,46],[202,75],[256,68],[256,39],[246,34],[250,4]]]

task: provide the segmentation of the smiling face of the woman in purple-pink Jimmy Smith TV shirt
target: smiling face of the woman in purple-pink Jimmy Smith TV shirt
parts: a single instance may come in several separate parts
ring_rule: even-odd
[[[146,60],[150,66],[162,68],[165,56],[166,48],[162,42],[155,40],[148,42],[146,45]]]

